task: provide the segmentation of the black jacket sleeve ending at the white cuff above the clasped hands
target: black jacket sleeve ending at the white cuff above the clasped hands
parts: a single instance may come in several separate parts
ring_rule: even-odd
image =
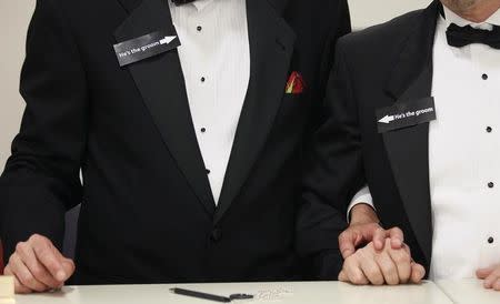
[[[307,158],[297,224],[298,251],[311,257],[312,276],[320,280],[337,280],[342,265],[338,236],[347,226],[350,200],[366,184],[344,41],[339,40],[327,85],[327,121],[316,133]]]

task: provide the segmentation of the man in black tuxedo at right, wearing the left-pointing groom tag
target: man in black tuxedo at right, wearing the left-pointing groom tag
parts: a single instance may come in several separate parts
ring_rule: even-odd
[[[398,284],[427,273],[478,276],[500,290],[499,8],[498,0],[433,1],[339,41],[331,118],[304,199],[327,210],[313,231],[323,252],[344,220],[334,211],[351,216],[339,237],[340,280]],[[396,242],[386,241],[381,227],[393,226]]]

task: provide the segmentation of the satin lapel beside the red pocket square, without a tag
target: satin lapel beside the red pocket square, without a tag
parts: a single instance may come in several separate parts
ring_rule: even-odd
[[[250,83],[216,212],[216,223],[237,199],[250,175],[283,98],[296,36],[273,4],[267,0],[247,0]]]

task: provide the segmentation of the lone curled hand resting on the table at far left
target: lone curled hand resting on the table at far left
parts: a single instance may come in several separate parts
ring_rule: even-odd
[[[60,288],[73,272],[73,261],[62,256],[49,239],[38,234],[18,243],[4,268],[6,275],[14,277],[16,293]]]

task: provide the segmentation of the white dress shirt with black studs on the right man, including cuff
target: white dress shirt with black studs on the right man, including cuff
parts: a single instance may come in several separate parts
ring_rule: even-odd
[[[433,241],[430,277],[474,277],[500,263],[500,50],[448,44],[450,23],[491,30],[500,11],[472,23],[444,8],[433,48],[429,128]],[[366,188],[351,202],[372,204]]]

